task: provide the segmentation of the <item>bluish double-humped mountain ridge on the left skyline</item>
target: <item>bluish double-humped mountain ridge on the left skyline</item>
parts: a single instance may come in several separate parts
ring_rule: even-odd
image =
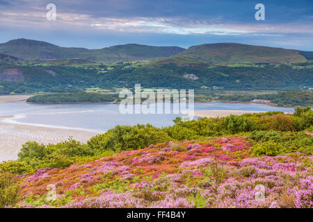
[[[165,58],[181,53],[185,49],[178,46],[146,46],[124,44],[103,49],[61,47],[37,40],[10,40],[0,44],[0,53],[25,60],[49,60],[84,58],[99,62],[131,62]]]

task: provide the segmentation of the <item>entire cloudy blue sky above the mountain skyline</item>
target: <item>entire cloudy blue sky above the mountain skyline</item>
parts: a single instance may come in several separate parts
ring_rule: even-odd
[[[313,0],[0,0],[0,43],[18,38],[87,49],[237,42],[313,51]]]

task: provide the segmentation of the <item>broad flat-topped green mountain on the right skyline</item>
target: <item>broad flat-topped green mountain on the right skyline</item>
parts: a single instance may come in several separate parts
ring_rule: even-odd
[[[168,63],[168,60],[182,60],[182,58],[186,60],[186,58],[191,58],[218,64],[284,63],[307,61],[311,57],[312,52],[238,43],[216,43],[191,46],[186,51],[171,58],[163,59],[160,62],[164,64]]]

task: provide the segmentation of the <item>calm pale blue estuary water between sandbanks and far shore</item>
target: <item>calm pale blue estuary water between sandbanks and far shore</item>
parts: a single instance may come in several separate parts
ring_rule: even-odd
[[[161,105],[161,104],[160,104]],[[168,126],[182,114],[120,114],[117,104],[60,104],[37,105],[28,103],[0,103],[0,115],[15,115],[9,121],[50,126],[80,128],[102,133],[116,125],[151,123]],[[294,112],[291,108],[278,108],[256,103],[195,103],[195,110],[252,110]]]

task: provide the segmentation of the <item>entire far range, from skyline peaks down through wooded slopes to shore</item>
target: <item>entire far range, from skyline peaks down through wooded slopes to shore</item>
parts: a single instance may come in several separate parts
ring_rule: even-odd
[[[197,90],[313,88],[313,52],[236,43],[65,48],[0,44],[0,94],[168,87]]]

